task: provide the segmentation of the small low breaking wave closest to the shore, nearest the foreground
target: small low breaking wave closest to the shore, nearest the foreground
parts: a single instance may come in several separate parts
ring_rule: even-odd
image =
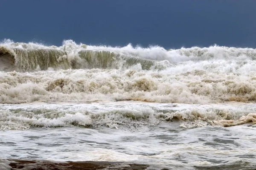
[[[14,107],[15,105],[11,106]],[[98,127],[137,129],[161,122],[179,122],[180,127],[234,126],[256,123],[256,107],[247,105],[145,105],[145,103],[98,105],[43,105],[0,110],[0,130],[32,127]],[[63,107],[62,106],[62,107]]]

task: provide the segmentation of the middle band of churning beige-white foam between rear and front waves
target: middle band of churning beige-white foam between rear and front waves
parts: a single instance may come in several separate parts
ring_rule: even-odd
[[[223,69],[221,65],[218,68]],[[206,104],[255,100],[256,73],[248,70],[253,66],[231,73],[183,66],[160,72],[90,69],[1,73],[0,102],[140,100]]]

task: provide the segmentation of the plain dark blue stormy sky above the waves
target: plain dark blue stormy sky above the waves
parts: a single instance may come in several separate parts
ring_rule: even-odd
[[[256,48],[256,0],[1,0],[0,40]]]

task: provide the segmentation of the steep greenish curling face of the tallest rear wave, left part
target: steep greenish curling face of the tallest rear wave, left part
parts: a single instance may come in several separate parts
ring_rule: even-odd
[[[65,41],[61,47],[44,46],[35,43],[14,43],[6,40],[0,45],[0,70],[3,71],[39,71],[49,68],[122,68],[140,64],[143,69],[150,69],[154,61],[108,48],[87,49],[87,45],[77,45]]]

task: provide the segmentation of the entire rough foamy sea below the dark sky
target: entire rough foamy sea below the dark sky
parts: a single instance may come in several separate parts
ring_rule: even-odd
[[[0,169],[256,169],[256,49],[0,44]]]

